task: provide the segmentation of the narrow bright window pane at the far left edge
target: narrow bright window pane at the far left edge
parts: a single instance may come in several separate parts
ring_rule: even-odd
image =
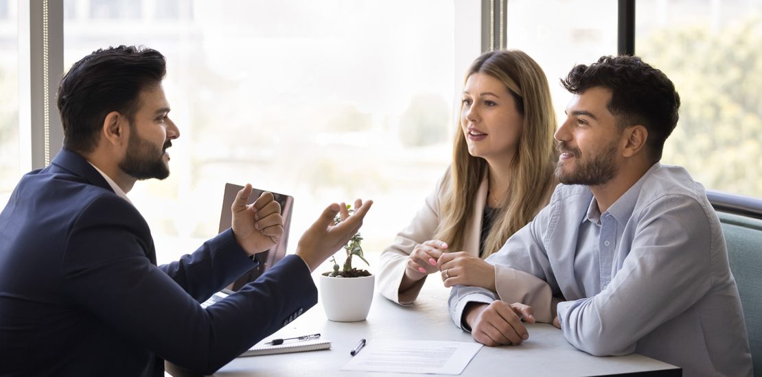
[[[8,202],[20,178],[16,5],[0,0],[0,206]]]

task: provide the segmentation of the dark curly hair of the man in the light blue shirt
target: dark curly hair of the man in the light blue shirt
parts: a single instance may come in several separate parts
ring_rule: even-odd
[[[649,155],[654,161],[661,159],[664,141],[677,126],[680,108],[680,95],[664,72],[637,56],[602,56],[590,66],[575,66],[561,83],[574,94],[594,87],[609,89],[607,108],[616,118],[616,126],[645,126]]]

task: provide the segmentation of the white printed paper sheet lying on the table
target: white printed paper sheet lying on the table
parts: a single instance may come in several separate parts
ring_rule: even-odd
[[[369,339],[341,370],[459,375],[480,343]]]

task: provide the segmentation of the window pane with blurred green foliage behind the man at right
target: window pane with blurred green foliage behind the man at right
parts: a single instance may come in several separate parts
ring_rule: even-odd
[[[662,161],[712,190],[762,196],[762,1],[639,0],[636,53],[680,94]]]

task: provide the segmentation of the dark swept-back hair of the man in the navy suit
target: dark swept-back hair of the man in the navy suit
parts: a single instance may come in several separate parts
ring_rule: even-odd
[[[161,53],[136,46],[97,50],[75,62],[58,88],[64,147],[92,152],[111,111],[123,114],[131,124],[140,92],[160,84],[166,66]]]

